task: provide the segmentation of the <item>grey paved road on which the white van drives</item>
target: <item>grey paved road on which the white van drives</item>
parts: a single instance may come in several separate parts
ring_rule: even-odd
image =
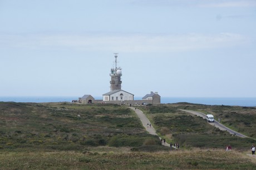
[[[188,113],[191,113],[191,114],[195,114],[196,116],[200,116],[200,117],[203,117],[204,119],[206,119],[206,115],[204,113],[196,112],[196,111],[190,111],[190,110],[184,110],[184,109],[179,109],[179,110],[183,111],[183,112],[188,112]],[[221,123],[219,123],[217,121],[214,121],[213,123],[210,123],[210,122],[208,122],[208,123],[211,124],[212,126],[218,127],[221,131],[228,131],[229,133],[235,134],[238,137],[248,138],[244,134],[235,132],[232,129],[230,129],[228,127],[225,127],[223,124],[221,124]]]

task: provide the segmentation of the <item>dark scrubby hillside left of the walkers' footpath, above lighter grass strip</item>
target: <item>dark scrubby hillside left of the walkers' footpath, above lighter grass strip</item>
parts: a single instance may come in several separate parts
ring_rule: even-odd
[[[0,103],[0,148],[81,150],[140,147],[159,139],[145,132],[129,108],[71,103]]]

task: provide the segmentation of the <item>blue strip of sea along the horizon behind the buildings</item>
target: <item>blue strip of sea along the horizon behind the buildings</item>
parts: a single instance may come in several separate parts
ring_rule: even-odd
[[[46,103],[46,102],[72,102],[78,100],[79,97],[0,97],[1,102],[32,102],[32,103]],[[95,99],[102,99],[102,97],[95,97]],[[135,97],[135,100],[142,99],[142,97]],[[250,98],[211,98],[211,97],[161,97],[161,103],[178,103],[188,102],[194,104],[207,105],[225,105],[225,106],[244,106],[256,107],[256,97]]]

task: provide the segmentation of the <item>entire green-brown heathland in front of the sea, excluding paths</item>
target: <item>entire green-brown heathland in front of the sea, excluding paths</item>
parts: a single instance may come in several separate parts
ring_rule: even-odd
[[[255,169],[255,107],[175,103],[136,106],[161,138],[161,146],[135,112],[116,104],[0,102],[2,169]],[[184,113],[210,113],[239,138]],[[226,146],[232,150],[225,151]]]

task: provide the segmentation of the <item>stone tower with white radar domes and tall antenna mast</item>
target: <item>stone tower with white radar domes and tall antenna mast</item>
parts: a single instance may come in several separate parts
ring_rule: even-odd
[[[119,67],[117,68],[117,54],[115,54],[115,68],[111,68],[110,76],[111,76],[111,81],[110,81],[110,91],[114,91],[116,89],[121,89],[121,76],[122,76],[122,69]]]

